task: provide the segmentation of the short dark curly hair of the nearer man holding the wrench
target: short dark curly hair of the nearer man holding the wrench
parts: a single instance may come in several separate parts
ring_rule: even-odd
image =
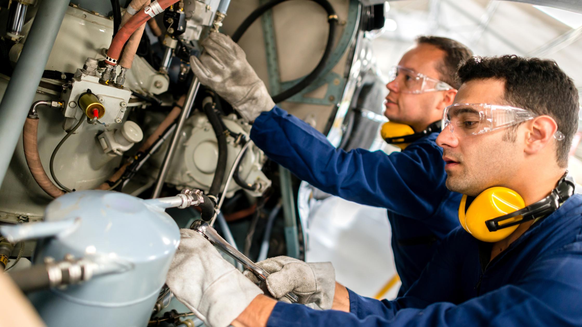
[[[537,115],[551,116],[565,138],[558,142],[558,165],[566,168],[578,128],[579,95],[574,81],[550,59],[516,55],[473,57],[459,67],[460,83],[475,79],[505,80],[505,100]],[[513,141],[517,134],[514,129]],[[511,141],[512,137],[508,137]]]

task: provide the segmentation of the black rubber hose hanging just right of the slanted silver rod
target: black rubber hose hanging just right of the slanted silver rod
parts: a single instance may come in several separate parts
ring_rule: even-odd
[[[206,97],[203,103],[204,113],[208,117],[208,122],[210,122],[210,125],[212,126],[218,141],[217,168],[214,170],[214,178],[212,179],[210,190],[208,190],[208,194],[217,197],[221,191],[222,180],[224,179],[224,175],[226,173],[226,159],[228,159],[226,134],[224,133],[225,129],[222,127],[221,119],[218,117],[218,113],[214,111],[212,97]]]

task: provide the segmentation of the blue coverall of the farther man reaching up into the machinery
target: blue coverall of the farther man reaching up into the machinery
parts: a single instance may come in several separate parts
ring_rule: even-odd
[[[269,158],[318,189],[388,209],[400,295],[418,279],[438,241],[459,226],[461,194],[446,189],[437,136],[431,133],[390,155],[346,152],[278,106],[262,112],[250,134]]]

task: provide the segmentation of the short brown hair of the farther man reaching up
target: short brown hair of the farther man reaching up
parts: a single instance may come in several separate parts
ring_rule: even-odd
[[[457,81],[457,68],[459,68],[459,64],[462,61],[473,56],[471,49],[467,48],[461,42],[440,36],[423,35],[417,37],[416,42],[417,44],[434,45],[442,51],[445,51],[445,56],[442,59],[441,65],[437,67],[437,70],[441,73],[441,80],[443,82],[458,90],[460,83]]]

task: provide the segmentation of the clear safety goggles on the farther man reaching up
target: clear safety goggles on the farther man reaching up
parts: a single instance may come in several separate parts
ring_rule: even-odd
[[[389,73],[389,81],[389,83],[396,81],[398,90],[402,93],[419,94],[454,89],[454,87],[441,80],[433,79],[402,66],[392,67]]]

